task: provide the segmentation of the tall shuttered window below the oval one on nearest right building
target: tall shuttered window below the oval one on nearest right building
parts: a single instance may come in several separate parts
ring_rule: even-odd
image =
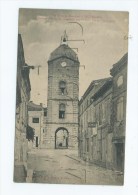
[[[124,99],[123,97],[120,97],[118,100],[117,100],[117,121],[122,121],[123,120],[123,102],[124,102]]]

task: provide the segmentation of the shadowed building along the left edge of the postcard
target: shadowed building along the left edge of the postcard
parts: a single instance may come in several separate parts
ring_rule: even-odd
[[[16,88],[16,121],[15,121],[15,155],[14,155],[14,181],[23,182],[26,179],[28,140],[26,131],[28,127],[27,106],[30,99],[29,66],[25,63],[22,37],[18,35],[17,57],[17,88]]]

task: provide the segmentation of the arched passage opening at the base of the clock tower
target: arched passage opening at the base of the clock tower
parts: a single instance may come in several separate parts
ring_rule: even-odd
[[[55,131],[55,149],[68,148],[69,132],[66,128],[60,127]]]

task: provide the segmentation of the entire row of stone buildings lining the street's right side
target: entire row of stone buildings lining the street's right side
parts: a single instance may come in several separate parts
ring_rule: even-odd
[[[123,172],[127,54],[110,73],[110,78],[93,81],[79,101],[79,156]]]

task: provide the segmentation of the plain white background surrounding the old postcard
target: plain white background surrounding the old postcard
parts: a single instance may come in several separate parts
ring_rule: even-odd
[[[129,60],[125,185],[84,186],[13,182],[15,86],[18,9],[129,11]],[[137,0],[3,0],[0,2],[0,194],[138,194],[138,1]]]

